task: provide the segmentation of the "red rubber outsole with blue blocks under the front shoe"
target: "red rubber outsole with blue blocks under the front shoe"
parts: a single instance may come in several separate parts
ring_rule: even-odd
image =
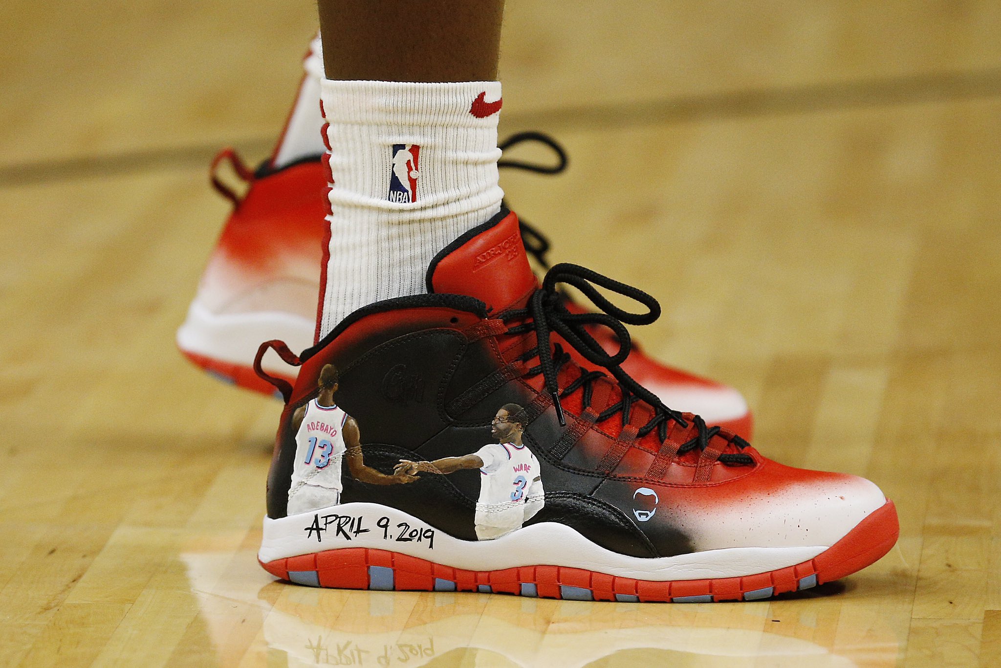
[[[840,541],[802,564],[743,577],[672,582],[620,578],[562,566],[466,571],[369,548],[326,550],[261,562],[261,566],[281,580],[336,589],[489,592],[583,601],[755,601],[855,573],[889,552],[899,534],[897,510],[887,501]]]

